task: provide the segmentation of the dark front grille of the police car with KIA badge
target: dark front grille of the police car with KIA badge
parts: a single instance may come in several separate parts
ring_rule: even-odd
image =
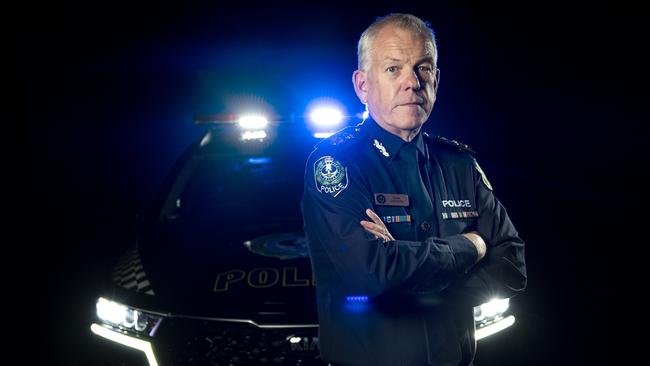
[[[291,337],[301,337],[291,343]],[[318,328],[259,328],[248,323],[165,319],[154,344],[161,365],[325,365]]]

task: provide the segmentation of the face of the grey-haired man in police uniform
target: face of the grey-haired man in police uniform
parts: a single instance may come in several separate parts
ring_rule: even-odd
[[[433,45],[408,30],[387,25],[369,51],[369,70],[354,76],[357,95],[368,104],[372,118],[389,132],[404,136],[419,130],[436,99]]]

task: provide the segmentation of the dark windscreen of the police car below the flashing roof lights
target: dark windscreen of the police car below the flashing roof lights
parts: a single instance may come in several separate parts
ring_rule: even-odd
[[[161,218],[197,230],[301,230],[304,160],[202,154],[172,184]]]

